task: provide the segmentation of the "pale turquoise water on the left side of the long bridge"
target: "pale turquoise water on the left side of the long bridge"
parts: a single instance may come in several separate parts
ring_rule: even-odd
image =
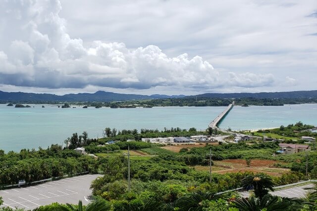
[[[0,149],[20,151],[52,143],[62,144],[72,133],[88,132],[90,138],[102,137],[106,127],[122,129],[159,129],[196,127],[205,130],[211,119],[225,107],[153,108],[58,108],[30,105],[15,108],[0,105]]]

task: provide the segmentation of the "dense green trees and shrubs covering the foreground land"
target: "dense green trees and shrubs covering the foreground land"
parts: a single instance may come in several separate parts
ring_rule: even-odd
[[[270,130],[274,133],[294,135],[294,131],[312,128],[298,122],[287,127]],[[207,132],[204,132],[206,134]],[[98,206],[110,211],[240,211],[253,210],[301,210],[309,211],[317,207],[316,193],[308,195],[306,201],[293,201],[276,196],[267,195],[272,186],[284,185],[306,179],[306,165],[308,178],[317,178],[317,152],[294,155],[272,156],[279,149],[278,143],[243,143],[238,144],[206,144],[204,147],[190,148],[174,153],[160,148],[161,145],[140,141],[142,137],[169,137],[174,135],[189,136],[202,134],[195,128],[184,130],[180,128],[164,129],[163,131],[142,129],[121,130],[105,128],[105,138],[89,139],[88,134],[74,133],[65,140],[66,148],[52,145],[44,150],[21,150],[20,153],[0,151],[0,184],[15,184],[18,179],[25,179],[27,183],[59,177],[65,174],[73,175],[77,172],[91,173],[102,171],[104,176],[94,180],[91,189],[95,201],[85,207],[78,205],[52,205],[40,207],[38,211],[82,210],[89,211]],[[285,134],[284,134],[285,135]],[[118,142],[109,141],[121,140]],[[85,147],[88,153],[107,153],[106,157],[97,159],[83,156],[73,149]],[[143,152],[152,157],[147,159],[130,160],[131,189],[128,184],[128,160],[122,152],[127,148]],[[264,173],[241,171],[235,173],[212,173],[211,183],[208,171],[195,170],[195,166],[210,164],[212,160],[223,159],[270,159],[282,162],[275,163],[275,167],[289,168],[290,171],[278,176],[268,176]],[[142,157],[140,157],[142,158]],[[213,164],[211,162],[211,164]],[[255,196],[249,199],[240,198],[238,193],[216,193],[237,187],[254,187]],[[1,204],[1,200],[0,200]],[[248,207],[251,206],[251,207]],[[259,210],[259,211],[260,211]],[[6,211],[11,211],[6,208]]]

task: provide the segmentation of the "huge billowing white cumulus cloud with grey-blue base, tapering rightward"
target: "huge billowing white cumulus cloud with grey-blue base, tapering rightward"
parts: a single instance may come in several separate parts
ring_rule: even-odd
[[[116,42],[84,45],[82,39],[67,33],[66,20],[59,16],[61,8],[59,0],[2,3],[0,84],[50,89],[173,86],[210,90],[274,83],[272,74],[225,73],[201,56],[182,53],[169,57],[154,45],[136,49]]]

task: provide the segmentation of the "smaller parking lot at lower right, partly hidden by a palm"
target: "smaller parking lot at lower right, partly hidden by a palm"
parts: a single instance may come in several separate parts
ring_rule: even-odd
[[[269,192],[271,195],[280,196],[280,197],[286,197],[286,198],[300,198],[305,196],[305,193],[307,193],[309,190],[305,190],[304,188],[307,187],[314,187],[312,184],[306,184],[302,186],[292,187],[292,188],[286,188],[282,190],[277,190],[274,192]],[[240,192],[240,194],[243,197],[249,197],[249,192],[244,191]]]

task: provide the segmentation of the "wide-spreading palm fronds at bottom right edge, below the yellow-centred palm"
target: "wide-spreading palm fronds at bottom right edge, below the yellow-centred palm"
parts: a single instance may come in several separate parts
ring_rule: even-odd
[[[262,199],[256,197],[240,198],[234,202],[239,211],[262,211],[264,209],[265,211],[287,211],[299,208],[294,199],[279,198],[270,194],[264,195]]]

